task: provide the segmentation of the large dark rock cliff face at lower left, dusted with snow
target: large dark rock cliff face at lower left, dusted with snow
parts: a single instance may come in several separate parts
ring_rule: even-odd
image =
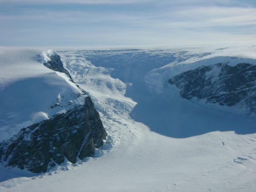
[[[92,156],[106,139],[100,116],[90,97],[84,105],[22,128],[0,143],[0,161],[35,173],[46,172],[65,158],[75,163]]]

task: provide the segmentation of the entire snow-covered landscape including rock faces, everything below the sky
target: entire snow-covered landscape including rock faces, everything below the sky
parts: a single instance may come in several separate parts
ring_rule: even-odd
[[[0,190],[253,192],[255,52],[0,48]]]

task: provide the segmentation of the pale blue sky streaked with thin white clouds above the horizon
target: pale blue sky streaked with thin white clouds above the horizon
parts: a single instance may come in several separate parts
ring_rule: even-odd
[[[0,46],[256,42],[256,0],[0,0]]]

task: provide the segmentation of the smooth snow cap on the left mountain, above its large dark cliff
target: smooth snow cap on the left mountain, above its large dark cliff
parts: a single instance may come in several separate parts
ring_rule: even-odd
[[[42,50],[0,48],[0,141],[83,103],[84,97],[75,96],[81,91],[66,74],[42,64],[43,55]],[[70,100],[74,104],[68,105]],[[60,106],[50,108],[54,104]]]

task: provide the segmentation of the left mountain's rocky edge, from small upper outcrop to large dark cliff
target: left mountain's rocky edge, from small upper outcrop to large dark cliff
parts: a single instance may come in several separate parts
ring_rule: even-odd
[[[60,56],[53,51],[43,54],[44,66],[60,72],[58,76],[62,76],[66,84],[72,86],[71,98],[74,102],[67,100],[70,97],[65,94],[68,88],[60,87],[63,90],[56,101],[48,103],[48,110],[58,109],[57,113],[24,126],[18,134],[0,143],[0,162],[4,166],[18,167],[34,173],[46,172],[56,164],[62,164],[65,159],[75,163],[78,159],[93,156],[95,148],[103,145],[107,135],[92,100],[73,82],[63,67]],[[55,78],[50,80],[54,81]],[[40,91],[40,83],[37,82],[38,87],[34,87],[34,92]]]

